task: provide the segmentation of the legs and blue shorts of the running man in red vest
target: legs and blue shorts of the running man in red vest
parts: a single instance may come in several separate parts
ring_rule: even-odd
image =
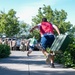
[[[48,53],[46,51],[47,46],[51,46],[53,41],[54,41],[54,36],[45,36],[41,38],[42,53],[47,57],[46,62],[51,63],[51,67],[54,68],[54,55],[52,55],[53,52]]]

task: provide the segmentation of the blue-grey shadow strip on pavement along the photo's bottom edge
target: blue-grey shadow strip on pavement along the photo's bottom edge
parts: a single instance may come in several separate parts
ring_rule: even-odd
[[[74,71],[18,71],[0,67],[0,75],[75,75]]]

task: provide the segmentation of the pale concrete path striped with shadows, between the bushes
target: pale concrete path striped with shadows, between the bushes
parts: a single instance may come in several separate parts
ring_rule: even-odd
[[[8,58],[0,59],[0,75],[75,75],[75,69],[50,68],[45,63],[45,57],[40,51],[34,51],[29,57],[26,51],[11,51]]]

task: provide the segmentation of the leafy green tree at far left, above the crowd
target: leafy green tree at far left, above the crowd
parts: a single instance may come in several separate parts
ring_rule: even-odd
[[[16,15],[16,11],[14,11],[13,9],[9,10],[7,14],[1,11],[0,32],[5,33],[6,36],[9,37],[14,36],[20,30],[19,21],[15,15]]]

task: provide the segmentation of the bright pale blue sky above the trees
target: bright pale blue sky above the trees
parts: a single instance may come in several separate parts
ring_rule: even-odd
[[[32,17],[37,15],[43,4],[50,5],[52,10],[65,10],[68,14],[66,21],[75,25],[75,0],[0,0],[0,11],[7,13],[14,9],[20,21],[31,24]]]

